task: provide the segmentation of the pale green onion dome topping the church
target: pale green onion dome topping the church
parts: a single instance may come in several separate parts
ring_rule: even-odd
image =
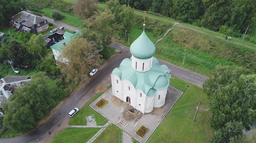
[[[131,44],[130,51],[138,59],[149,59],[155,54],[156,47],[147,37],[145,28],[142,34]]]

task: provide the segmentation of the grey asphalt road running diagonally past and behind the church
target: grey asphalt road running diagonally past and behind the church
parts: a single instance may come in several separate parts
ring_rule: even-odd
[[[49,18],[47,18],[49,19]],[[51,19],[50,19],[51,20]],[[66,29],[71,31],[78,31],[79,28],[72,27],[58,21],[50,21],[58,26],[65,26]],[[67,116],[68,112],[73,108],[81,108],[88,100],[97,93],[97,89],[101,86],[108,86],[111,84],[110,74],[115,67],[119,67],[120,63],[125,58],[130,58],[131,53],[128,47],[125,47],[116,42],[112,42],[111,47],[120,49],[121,53],[117,54],[112,59],[106,61],[98,69],[99,72],[93,77],[90,77],[89,83],[84,85],[82,88],[73,91],[64,101],[62,101],[55,109],[51,112],[52,116],[48,118],[42,125],[40,125],[35,131],[13,138],[0,139],[0,143],[6,142],[47,142],[54,136],[55,133],[61,131],[63,128],[66,128],[70,117]],[[159,59],[158,59],[159,60]],[[181,67],[175,66],[173,64],[167,63],[165,61],[159,60],[160,64],[165,64],[171,69],[171,74],[177,76],[181,79],[194,83],[198,86],[201,86],[202,83],[207,79],[207,77],[200,74],[191,72],[189,70],[183,69]],[[48,131],[52,134],[49,135]],[[36,140],[36,136],[39,140]]]

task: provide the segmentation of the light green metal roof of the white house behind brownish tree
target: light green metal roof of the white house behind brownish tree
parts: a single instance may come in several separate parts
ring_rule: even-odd
[[[68,33],[68,32],[67,32],[67,33]],[[65,35],[65,34],[66,34],[66,32],[64,33],[64,35]],[[52,49],[54,49],[54,50],[56,50],[56,51],[62,52],[62,49],[61,49],[61,48],[63,47],[62,42],[64,42],[66,45],[68,45],[68,44],[69,44],[69,41],[72,40],[72,39],[74,39],[74,37],[76,37],[77,34],[82,35],[81,30],[78,31],[78,32],[76,32],[76,33],[74,33],[74,34],[71,34],[71,33],[66,34],[66,36],[69,36],[69,37],[66,37],[65,39],[59,41],[58,43],[56,43],[56,44],[50,46],[50,48],[52,48]],[[63,35],[63,37],[64,37],[64,35]]]

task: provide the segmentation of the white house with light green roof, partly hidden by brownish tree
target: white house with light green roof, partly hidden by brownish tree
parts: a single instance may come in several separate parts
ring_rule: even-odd
[[[67,46],[69,44],[69,41],[74,39],[74,37],[76,37],[77,35],[82,35],[81,30],[76,32],[76,33],[69,33],[69,32],[65,32],[63,37],[64,39],[59,41],[58,43],[50,46],[50,48],[52,49],[52,52],[54,54],[54,58],[55,60],[58,60],[59,55],[62,53],[62,49],[65,48],[65,46]]]

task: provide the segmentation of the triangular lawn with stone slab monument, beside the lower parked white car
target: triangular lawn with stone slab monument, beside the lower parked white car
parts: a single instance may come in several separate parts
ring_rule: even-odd
[[[89,105],[94,102],[98,97],[100,97],[103,93],[97,93],[94,97],[92,97],[83,107],[79,110],[79,113],[74,116],[69,125],[87,125],[86,116],[91,114],[95,114],[97,125],[104,125],[108,122],[103,116],[101,116],[98,112],[93,110]]]

